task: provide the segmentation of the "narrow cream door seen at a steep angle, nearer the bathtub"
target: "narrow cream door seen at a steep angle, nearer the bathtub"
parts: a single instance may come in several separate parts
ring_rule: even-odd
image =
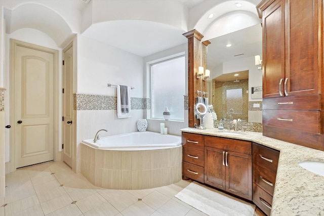
[[[63,161],[73,166],[73,47],[63,51]]]

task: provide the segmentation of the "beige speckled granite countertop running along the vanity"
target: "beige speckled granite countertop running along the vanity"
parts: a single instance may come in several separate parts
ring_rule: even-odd
[[[301,161],[324,162],[324,151],[262,136],[256,132],[233,132],[217,128],[183,128],[182,132],[258,143],[280,151],[271,216],[324,215],[324,177],[298,165]],[[222,134],[222,132],[240,135]]]

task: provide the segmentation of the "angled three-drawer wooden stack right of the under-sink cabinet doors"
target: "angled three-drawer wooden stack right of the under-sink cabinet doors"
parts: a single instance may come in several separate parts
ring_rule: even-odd
[[[279,151],[252,144],[253,202],[270,215]]]

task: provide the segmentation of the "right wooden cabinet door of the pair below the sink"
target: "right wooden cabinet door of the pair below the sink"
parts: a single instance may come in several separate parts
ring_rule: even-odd
[[[252,156],[228,151],[225,157],[226,191],[252,200]]]

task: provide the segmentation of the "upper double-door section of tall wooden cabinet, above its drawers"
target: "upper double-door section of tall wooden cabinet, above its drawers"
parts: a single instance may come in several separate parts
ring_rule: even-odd
[[[263,25],[263,98],[319,94],[322,1],[267,0]]]

